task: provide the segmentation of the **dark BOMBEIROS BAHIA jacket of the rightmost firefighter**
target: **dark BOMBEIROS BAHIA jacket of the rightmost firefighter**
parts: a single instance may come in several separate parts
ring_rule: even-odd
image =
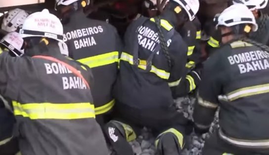
[[[219,48],[204,64],[196,126],[209,129],[220,107],[221,138],[238,146],[268,147],[268,70],[268,52],[253,44],[233,41]]]

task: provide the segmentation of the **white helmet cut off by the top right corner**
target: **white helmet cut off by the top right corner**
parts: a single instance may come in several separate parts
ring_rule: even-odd
[[[255,9],[265,8],[268,3],[268,0],[233,0],[233,3],[245,4],[251,11],[253,11]]]

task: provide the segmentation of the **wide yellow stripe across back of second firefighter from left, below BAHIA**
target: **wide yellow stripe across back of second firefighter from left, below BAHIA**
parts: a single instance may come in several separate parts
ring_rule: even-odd
[[[106,54],[100,54],[84,59],[78,60],[79,62],[89,66],[90,68],[109,65],[119,61],[119,52],[114,51]]]

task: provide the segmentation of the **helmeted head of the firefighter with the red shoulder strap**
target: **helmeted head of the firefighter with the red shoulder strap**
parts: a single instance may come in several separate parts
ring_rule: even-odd
[[[45,44],[59,48],[58,42],[63,42],[63,26],[59,18],[49,13],[47,9],[29,15],[20,30],[20,35],[25,41],[25,54],[41,54],[44,51],[32,52],[34,47]]]

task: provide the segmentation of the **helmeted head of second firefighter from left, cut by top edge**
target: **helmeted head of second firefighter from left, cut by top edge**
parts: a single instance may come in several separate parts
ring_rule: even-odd
[[[83,8],[89,4],[90,0],[55,0],[54,9],[58,12],[61,21],[67,23],[74,11],[83,11]]]

